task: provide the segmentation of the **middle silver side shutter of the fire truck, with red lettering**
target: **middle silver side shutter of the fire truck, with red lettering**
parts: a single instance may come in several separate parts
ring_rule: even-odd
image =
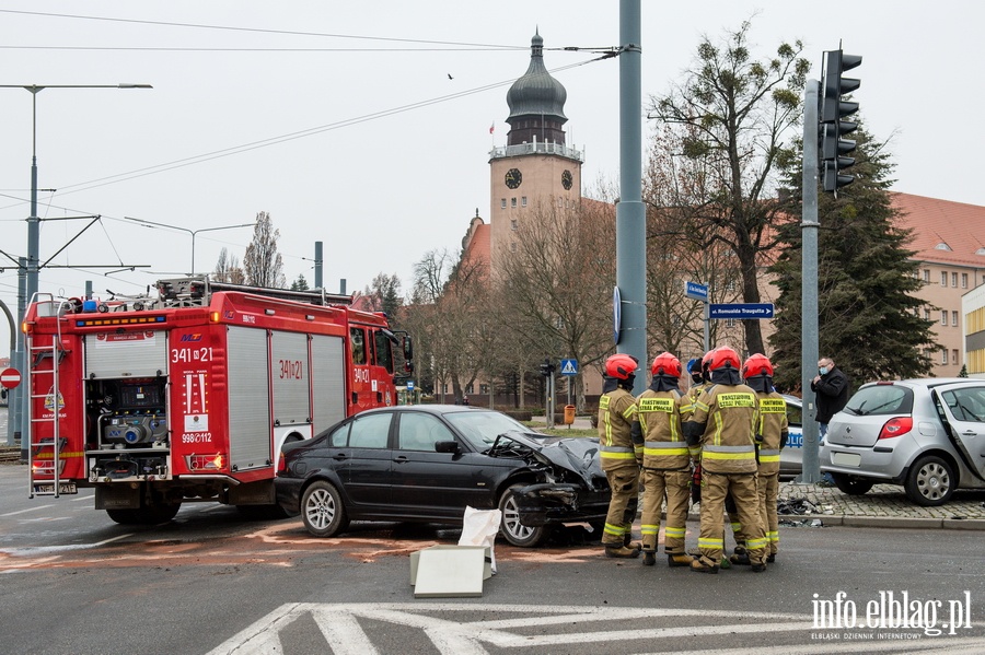
[[[311,424],[311,389],[308,372],[308,335],[270,334],[270,386],[274,391],[275,425]],[[305,434],[310,430],[304,431]]]

